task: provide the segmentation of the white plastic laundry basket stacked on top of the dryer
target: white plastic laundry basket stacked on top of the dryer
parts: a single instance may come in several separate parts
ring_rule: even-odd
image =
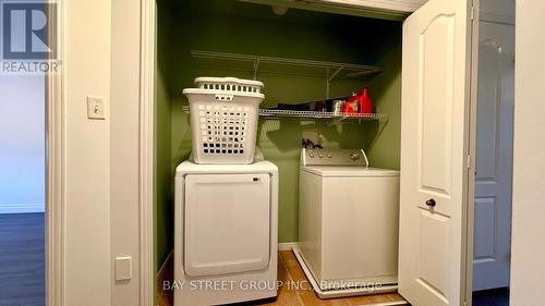
[[[190,100],[196,163],[251,163],[255,151],[263,83],[235,77],[197,77]]]

